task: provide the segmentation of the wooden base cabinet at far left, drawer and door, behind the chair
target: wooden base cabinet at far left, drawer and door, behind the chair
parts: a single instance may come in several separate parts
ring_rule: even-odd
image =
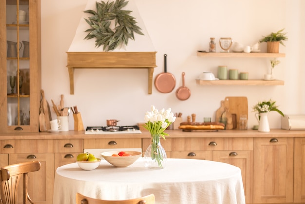
[[[29,174],[29,193],[35,204],[52,204],[54,180],[53,140],[1,140],[1,154],[8,155],[8,163],[38,160],[41,169]],[[32,177],[33,175],[33,177]],[[22,185],[19,186],[20,188]],[[21,189],[20,189],[21,190]],[[19,192],[22,192],[22,190]],[[18,200],[22,200],[20,193]]]

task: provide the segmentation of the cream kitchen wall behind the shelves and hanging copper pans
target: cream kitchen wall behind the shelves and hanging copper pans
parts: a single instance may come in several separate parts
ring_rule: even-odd
[[[152,85],[148,94],[147,70],[76,69],[74,95],[70,95],[67,55],[87,0],[42,0],[42,89],[46,99],[57,104],[64,94],[66,106],[77,105],[84,126],[106,125],[106,119],[120,120],[118,125],[143,122],[151,105],[171,107],[186,120],[195,113],[197,121],[215,118],[220,101],[226,96],[248,98],[248,127],[257,124],[252,107],[262,100],[277,101],[284,114],[305,114],[305,1],[303,0],[135,0],[153,46],[157,51],[154,77],[163,72],[167,54],[168,72],[176,77],[171,93],[159,93]],[[251,45],[263,35],[285,28],[288,41],[280,47],[285,58],[274,69],[284,86],[201,86],[195,79],[202,71],[217,74],[218,65],[249,72],[249,78],[262,78],[270,68],[270,59],[201,58],[197,50],[208,50],[210,37],[232,37]],[[95,45],[93,45],[95,46]],[[217,45],[216,49],[220,48]],[[266,49],[265,43],[262,49]],[[180,101],[175,90],[182,86],[181,73],[191,97]],[[154,80],[153,77],[153,80]],[[55,117],[55,113],[52,114]],[[70,116],[73,130],[73,117]],[[270,113],[271,128],[280,128],[280,115]]]

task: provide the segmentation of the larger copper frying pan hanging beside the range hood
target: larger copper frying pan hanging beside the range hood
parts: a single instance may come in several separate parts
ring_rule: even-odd
[[[166,72],[166,54],[164,54],[164,72],[158,74],[154,80],[156,89],[161,93],[170,93],[176,86],[176,79],[171,74]]]

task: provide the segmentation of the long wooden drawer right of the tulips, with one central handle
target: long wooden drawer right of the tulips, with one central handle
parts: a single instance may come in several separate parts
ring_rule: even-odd
[[[174,138],[173,151],[253,150],[253,138]]]

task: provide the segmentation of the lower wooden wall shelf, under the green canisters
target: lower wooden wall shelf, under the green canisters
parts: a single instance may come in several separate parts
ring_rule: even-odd
[[[284,81],[281,80],[199,80],[196,79],[196,83],[199,85],[262,85],[262,86],[276,86],[276,85],[284,85]]]

